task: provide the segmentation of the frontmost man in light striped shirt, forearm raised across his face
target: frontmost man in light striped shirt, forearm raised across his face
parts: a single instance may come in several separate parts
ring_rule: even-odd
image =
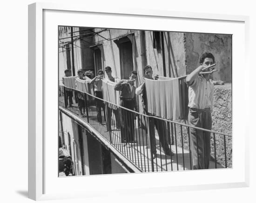
[[[203,53],[200,57],[200,66],[186,78],[189,85],[189,125],[208,130],[212,127],[214,85],[209,80],[212,73],[200,72],[213,63],[214,56],[209,52]],[[211,155],[210,133],[192,127],[189,129],[193,169],[208,169]]]

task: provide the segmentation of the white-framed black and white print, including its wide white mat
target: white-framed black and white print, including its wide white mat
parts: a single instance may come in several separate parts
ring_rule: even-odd
[[[29,198],[248,186],[248,17],[35,3],[28,18]]]

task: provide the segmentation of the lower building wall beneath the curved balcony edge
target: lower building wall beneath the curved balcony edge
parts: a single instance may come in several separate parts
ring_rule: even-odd
[[[74,118],[60,111],[59,142],[73,160],[73,175],[127,173],[131,170]],[[61,170],[61,167],[60,167]],[[62,173],[64,176],[64,174]]]

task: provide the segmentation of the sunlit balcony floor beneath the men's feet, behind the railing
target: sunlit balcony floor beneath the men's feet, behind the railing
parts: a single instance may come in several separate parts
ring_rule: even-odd
[[[61,101],[61,100],[60,100]],[[61,106],[64,107],[64,103],[61,103]],[[67,108],[72,111],[74,114],[77,114],[81,117],[77,105],[74,105],[72,108]],[[124,145],[121,143],[120,130],[115,126],[115,116],[112,114],[112,131],[111,136],[109,131],[107,131],[106,124],[103,121],[103,124],[97,121],[96,108],[90,106],[88,108],[89,114],[89,124],[94,127],[102,137],[110,142],[116,149],[119,150],[123,155],[125,155],[130,161],[137,165],[142,171],[178,171],[178,170],[191,170],[191,161],[189,151],[182,149],[175,145],[170,145],[172,152],[175,154],[170,157],[165,155],[160,147],[159,137],[157,131],[155,130],[155,139],[156,139],[156,158],[151,159],[150,148],[148,143],[148,137],[145,130],[142,130],[141,127],[138,127],[135,124],[135,143]],[[103,115],[103,111],[102,111]],[[104,117],[104,116],[103,116]],[[87,117],[83,118],[87,121]],[[136,121],[136,123],[138,123]],[[111,139],[110,139],[111,138]],[[209,168],[215,168],[215,163],[210,162]],[[223,168],[221,165],[217,164],[217,168]],[[64,175],[64,173],[62,174]],[[60,174],[61,176],[61,174]]]

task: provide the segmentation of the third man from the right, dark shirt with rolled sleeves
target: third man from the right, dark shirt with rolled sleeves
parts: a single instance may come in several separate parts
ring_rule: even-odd
[[[135,94],[135,80],[137,72],[131,71],[129,80],[121,80],[115,85],[116,91],[121,91],[120,106],[137,111],[137,101]],[[135,141],[135,113],[121,108],[121,142],[125,145]],[[130,146],[130,145],[129,145]]]

